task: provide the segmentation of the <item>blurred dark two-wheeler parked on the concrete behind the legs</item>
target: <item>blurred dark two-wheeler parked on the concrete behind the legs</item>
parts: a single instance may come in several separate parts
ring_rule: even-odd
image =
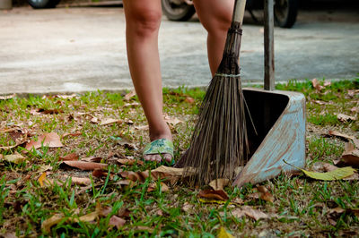
[[[171,21],[188,21],[196,13],[192,0],[161,0],[162,11]],[[246,10],[255,21],[257,17],[253,10],[264,8],[263,0],[247,0]],[[282,28],[291,28],[298,13],[298,0],[275,0],[274,4],[276,25]]]

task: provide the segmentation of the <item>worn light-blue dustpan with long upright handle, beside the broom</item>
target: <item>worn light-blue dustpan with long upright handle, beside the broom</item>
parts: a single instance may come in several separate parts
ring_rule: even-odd
[[[264,89],[243,89],[250,160],[233,182],[238,187],[305,166],[305,98],[302,93],[275,90],[273,0],[265,0],[264,13]]]

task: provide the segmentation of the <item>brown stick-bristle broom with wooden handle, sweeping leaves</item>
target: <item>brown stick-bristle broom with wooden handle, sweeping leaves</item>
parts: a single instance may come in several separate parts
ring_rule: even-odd
[[[245,102],[241,90],[241,26],[246,0],[236,0],[223,59],[200,106],[190,147],[176,166],[188,168],[191,183],[203,185],[217,178],[234,177],[248,159]]]

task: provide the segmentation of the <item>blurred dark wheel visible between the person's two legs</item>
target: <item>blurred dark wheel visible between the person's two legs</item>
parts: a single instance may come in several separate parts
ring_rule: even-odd
[[[162,11],[171,21],[188,21],[196,13],[193,4],[184,0],[161,0]]]

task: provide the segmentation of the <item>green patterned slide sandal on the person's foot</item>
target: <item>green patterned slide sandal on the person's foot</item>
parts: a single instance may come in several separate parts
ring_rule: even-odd
[[[159,154],[159,155],[170,154],[172,157],[171,162],[168,162],[164,159],[162,160],[161,164],[166,164],[169,166],[174,165],[173,142],[171,140],[167,140],[167,139],[153,140],[144,147],[144,156],[155,155],[155,154]]]

